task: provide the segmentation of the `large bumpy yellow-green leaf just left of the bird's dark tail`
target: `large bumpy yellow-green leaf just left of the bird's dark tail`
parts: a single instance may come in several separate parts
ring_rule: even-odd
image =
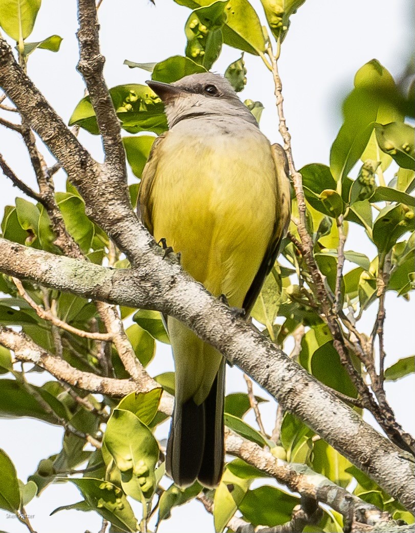
[[[141,494],[151,498],[156,489],[154,470],[158,461],[158,444],[153,433],[130,411],[115,409],[103,440],[121,471],[126,494],[139,501]]]

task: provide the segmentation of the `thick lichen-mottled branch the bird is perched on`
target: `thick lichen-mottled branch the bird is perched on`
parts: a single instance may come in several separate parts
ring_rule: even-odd
[[[405,507],[415,510],[410,456],[363,422],[256,328],[235,319],[232,310],[191,280],[177,263],[148,253],[140,268],[106,269],[0,239],[0,271],[93,300],[153,308],[183,321],[284,409],[295,413]],[[93,377],[101,382],[102,378]]]

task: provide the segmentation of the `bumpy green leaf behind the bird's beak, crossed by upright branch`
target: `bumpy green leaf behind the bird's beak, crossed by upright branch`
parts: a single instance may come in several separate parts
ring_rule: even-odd
[[[121,127],[129,133],[151,131],[157,135],[167,130],[164,106],[147,85],[118,85],[109,90]],[[69,126],[77,124],[94,135],[99,134],[95,111],[89,96],[76,106]]]

